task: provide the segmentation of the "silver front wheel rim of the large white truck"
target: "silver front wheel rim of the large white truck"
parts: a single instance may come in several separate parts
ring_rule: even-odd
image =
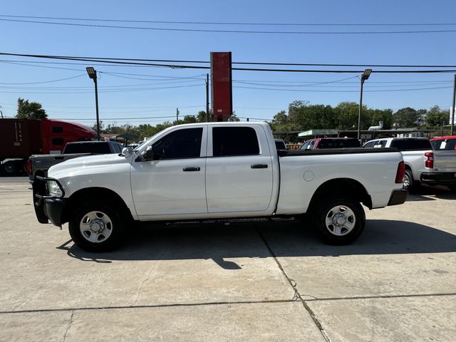
[[[104,212],[88,212],[81,219],[79,229],[84,239],[97,244],[110,237],[113,232],[113,222]]]

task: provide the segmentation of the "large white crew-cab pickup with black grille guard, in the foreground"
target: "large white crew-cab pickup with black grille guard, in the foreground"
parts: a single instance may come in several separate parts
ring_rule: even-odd
[[[369,209],[402,204],[395,149],[276,150],[266,123],[162,130],[135,150],[79,157],[33,180],[41,223],[69,222],[82,249],[113,249],[133,221],[309,214],[326,242],[348,244]]]

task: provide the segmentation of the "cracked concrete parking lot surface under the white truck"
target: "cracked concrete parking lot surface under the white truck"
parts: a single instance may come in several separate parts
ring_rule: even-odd
[[[304,223],[132,227],[118,251],[38,224],[0,181],[0,341],[456,341],[456,195],[366,211],[350,246]]]

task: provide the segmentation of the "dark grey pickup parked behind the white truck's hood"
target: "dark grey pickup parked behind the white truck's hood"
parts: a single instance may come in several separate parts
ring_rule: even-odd
[[[63,148],[61,155],[32,155],[26,162],[28,177],[46,175],[49,167],[85,155],[103,155],[109,153],[121,153],[123,145],[115,141],[80,141],[68,142]]]

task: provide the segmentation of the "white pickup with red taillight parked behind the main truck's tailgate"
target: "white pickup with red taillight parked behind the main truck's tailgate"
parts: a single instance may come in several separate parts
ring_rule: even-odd
[[[445,140],[435,139],[433,145],[442,147]],[[452,142],[448,143],[450,147]],[[446,142],[445,145],[446,147]],[[405,162],[404,187],[414,190],[420,183],[447,185],[456,191],[456,150],[432,149],[427,138],[381,138],[366,142],[364,147],[396,147]]]

